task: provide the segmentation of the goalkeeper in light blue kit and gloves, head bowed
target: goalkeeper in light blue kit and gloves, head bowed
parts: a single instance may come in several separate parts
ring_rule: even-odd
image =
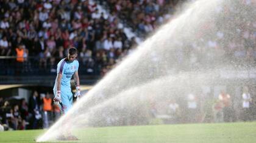
[[[57,77],[54,84],[54,104],[59,105],[62,114],[68,112],[73,105],[73,94],[71,92],[70,80],[74,75],[76,84],[75,97],[80,98],[79,62],[76,60],[77,50],[74,47],[69,48],[67,58],[60,60],[57,65]],[[61,136],[60,140],[77,140],[76,136]]]

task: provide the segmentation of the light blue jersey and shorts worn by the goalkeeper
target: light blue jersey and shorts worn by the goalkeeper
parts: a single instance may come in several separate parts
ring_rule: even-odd
[[[57,74],[62,74],[62,79],[60,81],[60,96],[62,98],[62,105],[60,106],[60,110],[66,113],[69,108],[72,107],[73,104],[73,94],[71,92],[70,80],[74,73],[78,71],[79,62],[74,60],[73,62],[68,62],[67,58],[60,60],[57,65]],[[54,84],[54,95],[56,95],[57,91],[57,77],[55,79]]]

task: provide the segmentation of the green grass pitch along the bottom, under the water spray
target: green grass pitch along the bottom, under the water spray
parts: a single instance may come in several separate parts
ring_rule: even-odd
[[[44,130],[0,132],[0,142],[35,142]],[[256,122],[87,128],[74,132],[88,143],[256,142]],[[67,141],[63,141],[67,142]],[[69,141],[70,142],[70,141]]]

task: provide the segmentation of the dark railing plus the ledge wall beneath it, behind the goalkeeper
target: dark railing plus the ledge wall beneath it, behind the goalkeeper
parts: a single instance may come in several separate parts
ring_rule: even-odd
[[[78,59],[79,60],[79,59]],[[58,58],[24,58],[18,62],[16,56],[0,56],[0,84],[51,84],[56,76]],[[82,84],[93,84],[100,77],[97,65],[88,67],[79,60],[79,76]]]

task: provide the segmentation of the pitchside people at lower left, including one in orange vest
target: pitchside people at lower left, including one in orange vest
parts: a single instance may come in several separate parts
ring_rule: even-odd
[[[53,104],[52,93],[34,91],[26,99],[0,98],[0,124],[5,130],[48,128],[60,118],[60,108]]]

